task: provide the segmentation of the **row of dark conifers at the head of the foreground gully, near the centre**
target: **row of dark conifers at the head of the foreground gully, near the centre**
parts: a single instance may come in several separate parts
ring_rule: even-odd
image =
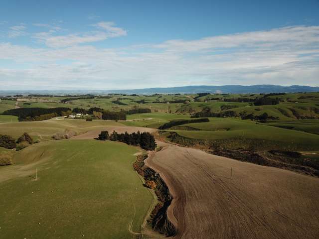
[[[146,150],[155,150],[157,147],[154,136],[149,132],[140,131],[133,133],[117,133],[113,131],[111,135],[109,135],[108,131],[101,131],[98,137],[99,140],[112,140],[112,141],[120,141],[129,145],[137,145]]]

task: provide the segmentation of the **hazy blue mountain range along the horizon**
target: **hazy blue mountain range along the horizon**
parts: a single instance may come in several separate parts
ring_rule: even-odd
[[[239,93],[295,93],[295,92],[319,92],[319,87],[311,86],[276,86],[276,85],[225,85],[225,86],[180,86],[180,87],[166,87],[166,88],[146,88],[133,90],[27,90],[27,91],[0,91],[0,96],[10,95],[67,95],[67,94],[138,94],[138,95],[152,95],[152,94],[196,94],[196,93],[219,93],[219,94],[239,94]]]

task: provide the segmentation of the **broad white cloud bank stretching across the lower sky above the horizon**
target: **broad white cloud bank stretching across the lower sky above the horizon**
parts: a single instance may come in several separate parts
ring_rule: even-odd
[[[100,22],[101,23],[101,22]],[[21,81],[29,87],[140,88],[176,85],[318,85],[319,26],[294,26],[126,48],[85,45],[103,40],[113,24],[94,34],[37,38],[54,47],[0,43],[0,59],[23,67],[0,68],[0,85]],[[78,45],[83,43],[82,45]],[[66,47],[65,47],[66,46]],[[24,65],[28,64],[28,67]],[[75,84],[76,83],[76,84]]]

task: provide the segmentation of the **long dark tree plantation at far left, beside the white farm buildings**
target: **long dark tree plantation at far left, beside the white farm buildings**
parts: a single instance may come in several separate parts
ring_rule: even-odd
[[[7,110],[2,113],[2,115],[17,116],[19,121],[39,121],[58,116],[67,116],[69,114],[71,114],[71,109],[65,107],[51,109],[19,108]]]

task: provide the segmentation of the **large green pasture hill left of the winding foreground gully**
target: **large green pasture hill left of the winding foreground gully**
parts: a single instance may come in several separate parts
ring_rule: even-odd
[[[0,183],[1,238],[130,238],[131,220],[139,231],[152,202],[132,169],[135,152],[97,140],[42,142],[17,152],[17,165],[0,174],[26,165],[32,175],[31,163],[41,158],[39,179]]]

